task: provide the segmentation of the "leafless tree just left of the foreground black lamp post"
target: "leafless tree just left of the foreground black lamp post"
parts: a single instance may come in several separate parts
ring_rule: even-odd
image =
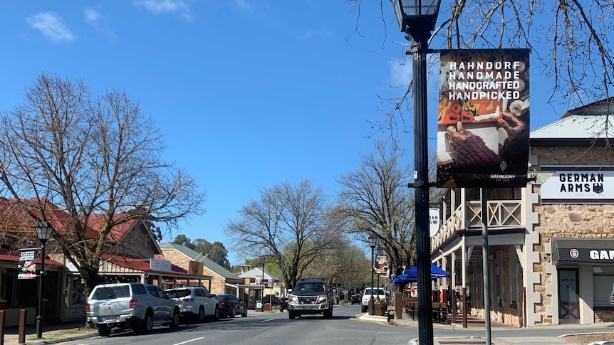
[[[365,242],[371,233],[378,237],[392,274],[415,262],[414,193],[407,187],[412,174],[402,157],[402,149],[378,142],[357,171],[339,179],[342,189],[335,208],[335,214],[345,220],[346,232]],[[439,192],[434,190],[431,198]]]

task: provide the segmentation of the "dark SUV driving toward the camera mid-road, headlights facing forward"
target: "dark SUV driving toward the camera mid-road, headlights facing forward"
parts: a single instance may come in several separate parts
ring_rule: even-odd
[[[323,314],[333,317],[333,293],[325,280],[300,280],[288,295],[288,317],[294,319],[303,314]]]

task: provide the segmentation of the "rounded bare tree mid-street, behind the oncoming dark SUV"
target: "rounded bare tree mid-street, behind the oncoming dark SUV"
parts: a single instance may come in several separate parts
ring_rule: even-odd
[[[276,261],[283,283],[293,287],[313,260],[333,248],[337,229],[327,221],[326,206],[322,189],[311,181],[277,184],[243,206],[224,232],[235,250]]]

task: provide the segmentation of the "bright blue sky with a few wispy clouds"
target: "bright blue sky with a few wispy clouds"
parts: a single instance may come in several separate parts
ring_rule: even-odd
[[[224,225],[259,189],[311,179],[335,196],[335,179],[372,150],[368,121],[392,107],[378,95],[401,95],[411,78],[383,4],[385,22],[376,0],[360,13],[344,0],[2,1],[0,111],[23,103],[40,73],[125,90],[161,129],[165,158],[207,193],[207,212],[182,233],[229,248]],[[532,69],[531,129],[565,112],[536,101],[551,88],[538,79]],[[430,78],[431,149],[436,92]],[[411,164],[412,135],[400,139]]]

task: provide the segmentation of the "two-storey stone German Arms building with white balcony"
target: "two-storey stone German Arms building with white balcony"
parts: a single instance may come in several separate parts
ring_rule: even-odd
[[[468,313],[518,327],[614,321],[609,302],[614,284],[612,101],[570,110],[532,131],[532,179],[526,188],[485,191],[488,316],[482,193],[479,188],[446,191],[431,258],[452,272],[440,285],[464,294]]]

